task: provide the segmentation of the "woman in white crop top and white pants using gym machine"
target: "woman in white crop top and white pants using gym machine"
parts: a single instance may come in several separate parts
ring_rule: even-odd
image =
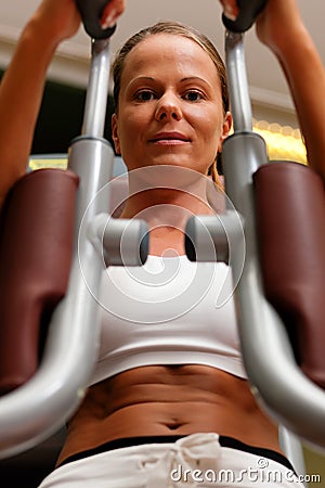
[[[229,13],[232,5],[223,3]],[[110,24],[112,10],[107,15]],[[78,25],[73,0],[44,0],[23,33],[0,91],[0,137],[5,141],[1,147],[6,153],[1,195],[25,170],[53,52]],[[282,0],[270,0],[257,28],[284,67],[310,164],[324,176],[317,157],[325,149],[324,70],[296,1],[283,5]],[[84,401],[69,421],[58,467],[41,487],[188,483],[288,487],[294,481],[302,486],[281,451],[276,425],[250,393],[238,350],[234,304],[227,300],[214,307],[216,288],[223,281],[231,286],[226,267],[184,259],[184,221],[188,214],[213,213],[206,197],[206,176],[211,172],[217,179],[216,156],[231,128],[221,60],[196,31],[159,24],[126,44],[114,72],[113,138],[128,166],[131,189],[122,217],[148,221],[150,257],[133,278],[123,268],[109,269],[103,277],[99,367]],[[24,85],[17,86],[16,79],[24,79]],[[147,184],[141,193],[136,187],[134,191],[139,171],[141,183]],[[171,267],[171,272],[177,266],[180,278],[167,283],[148,281],[161,266]],[[195,307],[190,300],[186,310],[183,305],[180,309],[180,300],[174,300],[176,308],[165,310],[164,300],[170,300],[188,280],[206,291],[207,274],[210,290],[202,293]],[[127,298],[132,303],[130,316]]]

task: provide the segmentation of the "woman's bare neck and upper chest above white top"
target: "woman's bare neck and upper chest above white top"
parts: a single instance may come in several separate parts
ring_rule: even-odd
[[[148,167],[129,174],[129,197],[121,218],[145,220],[150,254],[167,249],[184,254],[185,226],[194,215],[213,215],[207,200],[211,181],[197,171],[178,167]]]

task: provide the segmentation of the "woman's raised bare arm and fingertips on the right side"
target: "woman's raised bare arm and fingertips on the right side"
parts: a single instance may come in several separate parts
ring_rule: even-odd
[[[237,15],[236,0],[220,0]],[[325,179],[325,72],[300,16],[297,0],[269,0],[257,21],[257,35],[277,57],[288,81],[309,164]]]

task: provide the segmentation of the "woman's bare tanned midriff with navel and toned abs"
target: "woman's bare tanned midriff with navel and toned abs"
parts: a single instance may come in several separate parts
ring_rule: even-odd
[[[197,364],[135,368],[89,389],[57,462],[114,439],[207,432],[281,452],[246,380]]]

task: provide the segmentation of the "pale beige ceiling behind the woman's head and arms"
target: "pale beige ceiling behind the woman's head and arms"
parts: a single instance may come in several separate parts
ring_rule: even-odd
[[[0,0],[0,65],[8,64],[23,25],[39,3],[40,0]],[[298,3],[325,64],[325,2],[298,0]],[[158,20],[177,20],[197,27],[223,53],[224,28],[217,0],[127,0],[127,10],[112,40],[113,53],[131,34]],[[49,77],[65,84],[86,86],[89,53],[90,39],[81,27],[74,39],[64,42],[58,49]],[[246,61],[252,103],[283,115],[291,114],[292,103],[278,64],[257,40],[253,29],[246,35]]]

